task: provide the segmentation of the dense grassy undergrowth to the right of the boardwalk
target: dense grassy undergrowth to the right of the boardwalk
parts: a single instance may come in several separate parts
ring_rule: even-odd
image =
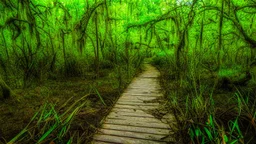
[[[242,65],[223,62],[218,72],[210,72],[204,66],[207,61],[193,56],[188,59],[191,63],[182,71],[174,69],[174,59],[168,53],[159,53],[152,59],[161,71],[169,110],[177,120],[173,128],[176,140],[255,143],[256,85],[252,78],[245,80],[253,70],[246,72]]]

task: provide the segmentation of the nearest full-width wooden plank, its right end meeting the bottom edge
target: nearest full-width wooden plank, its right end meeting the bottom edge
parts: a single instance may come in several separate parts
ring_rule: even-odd
[[[94,136],[94,139],[103,141],[103,142],[122,143],[122,144],[165,144],[166,143],[166,142],[153,141],[153,140],[136,139],[136,138],[129,138],[129,137],[113,136],[113,135],[100,135],[100,134],[96,134]]]

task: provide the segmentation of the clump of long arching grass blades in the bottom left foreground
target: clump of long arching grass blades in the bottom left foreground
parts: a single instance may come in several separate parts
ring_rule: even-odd
[[[11,139],[8,144],[13,143],[73,143],[76,133],[69,133],[72,121],[79,111],[86,107],[85,99],[87,94],[76,100],[73,104],[66,107],[71,102],[72,97],[62,106],[56,109],[54,104],[46,103],[35,113],[27,126]]]

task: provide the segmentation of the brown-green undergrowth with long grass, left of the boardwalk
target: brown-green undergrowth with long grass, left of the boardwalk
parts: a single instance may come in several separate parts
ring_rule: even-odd
[[[0,103],[1,142],[89,143],[123,89],[141,71],[140,65],[133,67],[129,78],[126,67],[105,66],[97,79],[93,73],[59,76],[13,89],[16,97]]]

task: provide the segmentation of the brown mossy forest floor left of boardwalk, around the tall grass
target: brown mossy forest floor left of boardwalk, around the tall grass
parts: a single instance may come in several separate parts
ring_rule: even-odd
[[[141,70],[139,70],[141,71]],[[27,89],[14,89],[17,98],[0,101],[0,139],[8,142],[16,136],[30,122],[33,115],[46,103],[51,103],[58,110],[72,97],[67,104],[72,105],[76,100],[88,94],[91,85],[97,85],[97,90],[104,99],[104,106],[97,96],[92,93],[86,98],[86,107],[83,108],[71,124],[70,132],[78,131],[85,135],[85,142],[91,140],[95,129],[101,120],[109,113],[113,104],[129,83],[124,82],[122,89],[118,89],[117,80],[109,78],[111,69],[104,72],[103,77],[97,80],[82,79],[80,77],[47,80],[40,86]],[[139,72],[137,72],[139,73]],[[59,110],[61,111],[61,109]],[[0,141],[0,143],[1,143]]]

